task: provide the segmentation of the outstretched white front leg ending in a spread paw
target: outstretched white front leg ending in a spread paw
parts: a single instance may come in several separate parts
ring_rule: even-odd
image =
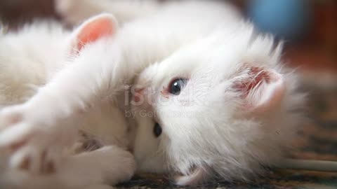
[[[76,140],[81,113],[114,86],[107,85],[110,77],[102,77],[103,68],[74,62],[32,99],[0,112],[0,148],[11,153],[11,167],[35,173],[55,171],[64,148]]]

